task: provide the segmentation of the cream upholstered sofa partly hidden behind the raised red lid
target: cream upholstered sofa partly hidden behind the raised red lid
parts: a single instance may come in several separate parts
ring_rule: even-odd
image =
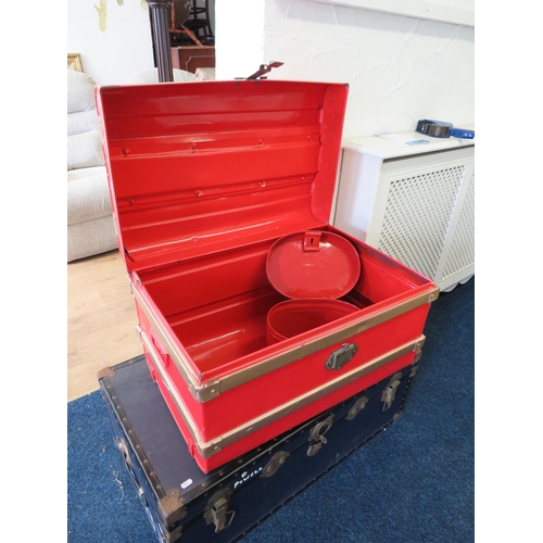
[[[174,68],[175,83],[193,80]],[[159,83],[159,72],[139,72],[127,83]],[[88,75],[67,71],[67,262],[117,249],[94,87]]]

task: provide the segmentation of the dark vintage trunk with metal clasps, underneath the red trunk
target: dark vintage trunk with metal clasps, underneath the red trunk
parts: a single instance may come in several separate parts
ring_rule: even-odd
[[[207,475],[190,456],[143,356],[104,370],[100,390],[157,539],[220,543],[238,539],[396,420],[417,362]]]

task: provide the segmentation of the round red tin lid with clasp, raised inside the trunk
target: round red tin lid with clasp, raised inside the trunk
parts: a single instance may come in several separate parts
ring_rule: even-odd
[[[345,238],[307,230],[278,239],[270,248],[266,273],[272,286],[293,300],[336,300],[358,281],[361,261]]]

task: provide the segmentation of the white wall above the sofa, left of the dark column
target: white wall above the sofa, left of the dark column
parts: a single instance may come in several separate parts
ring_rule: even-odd
[[[119,85],[154,67],[149,8],[144,0],[68,0],[67,52],[81,55],[83,68],[98,85]],[[105,7],[105,28],[97,10]]]

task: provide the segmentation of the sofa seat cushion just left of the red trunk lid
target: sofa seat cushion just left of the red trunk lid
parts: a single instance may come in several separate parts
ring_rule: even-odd
[[[74,175],[75,174],[75,175]],[[67,224],[74,225],[112,214],[105,167],[67,174]]]

